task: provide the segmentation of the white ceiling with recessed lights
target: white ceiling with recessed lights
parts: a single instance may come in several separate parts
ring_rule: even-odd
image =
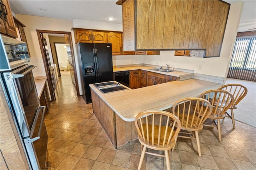
[[[10,0],[12,12],[66,20],[80,19],[122,24],[122,6],[117,0]],[[224,0],[230,4],[239,0]],[[256,28],[256,0],[243,0],[238,32]],[[39,10],[39,9],[45,10]],[[108,21],[107,18],[114,18]]]

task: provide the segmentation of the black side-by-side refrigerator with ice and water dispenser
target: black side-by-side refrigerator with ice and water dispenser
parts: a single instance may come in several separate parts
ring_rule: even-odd
[[[83,85],[83,98],[88,104],[92,102],[89,84],[113,81],[112,45],[111,43],[78,43],[78,56]]]

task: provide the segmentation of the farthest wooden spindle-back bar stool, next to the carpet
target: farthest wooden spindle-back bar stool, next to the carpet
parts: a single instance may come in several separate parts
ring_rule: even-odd
[[[242,84],[225,84],[218,88],[219,90],[226,90],[230,92],[234,96],[234,103],[230,106],[231,115],[226,112],[226,116],[232,119],[233,128],[236,128],[235,125],[235,118],[234,118],[234,111],[233,109],[237,108],[237,104],[246,96],[247,88]]]

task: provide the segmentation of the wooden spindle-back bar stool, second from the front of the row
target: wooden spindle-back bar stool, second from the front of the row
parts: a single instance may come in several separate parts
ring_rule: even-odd
[[[201,156],[198,131],[203,129],[204,121],[212,113],[210,102],[202,98],[184,98],[173,105],[172,113],[180,119],[181,129],[184,130],[180,131],[178,137],[196,139],[198,155]]]

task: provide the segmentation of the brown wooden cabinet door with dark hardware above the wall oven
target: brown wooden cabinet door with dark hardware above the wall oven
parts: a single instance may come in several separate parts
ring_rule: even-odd
[[[7,14],[6,14],[6,20],[2,21],[2,18],[1,18],[1,32],[2,32],[2,30],[4,31],[4,29],[2,28],[4,26],[4,25],[2,25],[2,23],[4,22],[5,23],[6,31],[4,31],[3,33],[6,32],[7,35],[10,35],[12,37],[17,38],[18,36],[17,36],[17,33],[16,33],[16,28],[15,28],[15,25],[14,25],[14,20],[12,18],[12,11],[11,11],[11,8],[10,8],[10,4],[9,4],[8,0],[2,0],[2,3],[6,7]]]

